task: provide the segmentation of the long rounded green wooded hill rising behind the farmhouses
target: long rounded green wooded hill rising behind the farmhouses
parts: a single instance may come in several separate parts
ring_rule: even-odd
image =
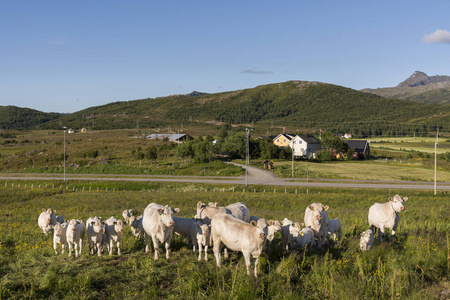
[[[285,126],[395,135],[450,127],[450,106],[386,99],[341,86],[288,81],[216,94],[174,95],[88,108],[41,128],[95,130],[219,123]]]

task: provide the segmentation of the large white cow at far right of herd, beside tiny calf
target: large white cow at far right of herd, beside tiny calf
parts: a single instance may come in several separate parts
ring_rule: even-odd
[[[395,195],[389,197],[389,202],[375,203],[369,208],[369,225],[373,233],[379,228],[378,241],[384,239],[385,229],[392,231],[392,240],[395,240],[395,231],[397,230],[400,217],[399,212],[405,210],[403,203],[408,201],[408,197],[400,197]]]

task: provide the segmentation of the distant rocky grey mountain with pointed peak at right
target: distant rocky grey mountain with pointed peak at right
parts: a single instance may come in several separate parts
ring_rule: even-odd
[[[415,71],[396,87],[362,89],[385,98],[405,99],[429,104],[450,104],[450,76],[428,76]]]

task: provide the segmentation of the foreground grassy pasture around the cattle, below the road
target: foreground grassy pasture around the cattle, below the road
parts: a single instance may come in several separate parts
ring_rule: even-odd
[[[231,187],[117,183],[115,192],[112,186],[105,191],[103,185],[101,191],[93,186],[92,191],[74,192],[38,188],[37,182],[33,188],[31,182],[26,188],[23,182],[20,188],[12,183],[0,182],[1,299],[439,299],[450,289],[446,192],[433,196],[402,190],[401,196],[409,200],[400,214],[397,240],[376,242],[372,251],[361,253],[359,233],[368,229],[369,207],[397,191],[310,188],[299,189],[298,194],[233,193]],[[225,191],[219,192],[222,188]],[[192,217],[197,201],[220,205],[242,201],[252,215],[294,221],[303,219],[307,205],[321,202],[330,206],[330,218],[342,222],[342,242],[331,242],[323,251],[289,253],[277,235],[260,258],[259,277],[254,278],[246,274],[240,253],[233,253],[217,269],[212,251],[209,261],[198,262],[178,236],[172,241],[171,258],[154,261],[129,228],[121,256],[89,256],[86,244],[79,258],[55,255],[52,238],[37,225],[42,208],[48,207],[66,219],[86,220],[93,215],[119,218],[128,208],[142,213],[156,202],[179,207],[180,217]]]

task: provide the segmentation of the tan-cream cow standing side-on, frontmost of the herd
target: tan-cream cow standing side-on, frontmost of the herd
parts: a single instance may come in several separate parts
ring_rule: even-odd
[[[220,253],[222,247],[226,246],[230,250],[242,252],[248,274],[250,274],[250,256],[253,256],[255,258],[254,274],[257,277],[258,259],[263,249],[266,227],[265,219],[246,223],[229,214],[214,216],[211,221],[211,238],[217,267],[222,264]]]

